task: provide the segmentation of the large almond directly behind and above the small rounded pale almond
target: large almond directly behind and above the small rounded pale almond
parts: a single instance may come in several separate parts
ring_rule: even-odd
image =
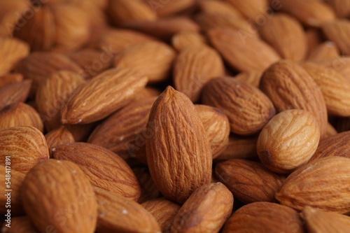
[[[274,103],[277,112],[294,108],[311,112],[321,136],[325,134],[328,116],[322,92],[301,66],[287,60],[276,62],[262,75],[260,89]]]

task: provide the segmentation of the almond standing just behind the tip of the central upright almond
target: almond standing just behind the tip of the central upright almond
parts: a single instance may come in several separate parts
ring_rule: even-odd
[[[181,50],[174,64],[174,85],[196,102],[202,87],[212,78],[224,75],[223,60],[207,46],[188,46]]]

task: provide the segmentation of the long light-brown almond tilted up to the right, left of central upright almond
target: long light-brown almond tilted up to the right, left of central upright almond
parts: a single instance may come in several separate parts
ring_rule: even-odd
[[[71,95],[62,108],[62,123],[87,124],[105,118],[125,106],[147,80],[130,69],[104,71]]]

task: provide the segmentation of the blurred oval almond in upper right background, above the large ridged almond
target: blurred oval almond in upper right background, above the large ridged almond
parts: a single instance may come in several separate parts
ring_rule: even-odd
[[[286,14],[273,15],[260,34],[285,59],[300,61],[307,53],[307,40],[300,22]]]

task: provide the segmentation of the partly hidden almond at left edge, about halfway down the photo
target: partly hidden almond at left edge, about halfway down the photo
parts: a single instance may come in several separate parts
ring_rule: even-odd
[[[43,132],[43,122],[38,112],[29,106],[19,102],[8,105],[0,111],[0,129],[16,126],[36,127]]]

